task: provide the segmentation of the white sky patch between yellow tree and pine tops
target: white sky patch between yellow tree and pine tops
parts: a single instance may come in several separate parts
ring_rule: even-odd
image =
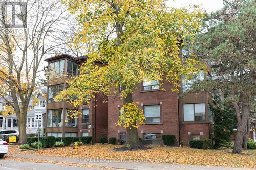
[[[175,2],[173,0],[168,0],[167,1],[167,6],[169,7],[183,7],[186,5],[191,4],[196,4],[196,5],[201,5],[202,8],[204,8],[207,12],[214,12],[216,10],[219,10],[223,7],[222,4],[223,0],[176,0]]]

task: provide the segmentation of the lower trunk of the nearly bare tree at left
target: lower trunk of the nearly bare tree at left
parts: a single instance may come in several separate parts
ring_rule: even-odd
[[[27,143],[26,123],[27,123],[27,114],[24,112],[20,112],[18,116],[18,131],[19,131],[18,143],[20,144]]]

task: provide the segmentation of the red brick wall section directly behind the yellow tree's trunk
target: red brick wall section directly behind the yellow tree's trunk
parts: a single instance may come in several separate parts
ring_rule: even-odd
[[[138,90],[133,93],[134,102],[139,102],[139,107],[143,109],[141,104],[145,105],[159,105],[160,104],[160,123],[146,124],[138,128],[139,137],[143,138],[143,133],[160,133],[173,134],[179,139],[179,120],[178,120],[178,100],[177,93],[170,91],[172,86],[169,83],[164,83],[166,91],[147,91],[144,92],[142,83],[138,85]],[[119,96],[109,96],[108,98],[108,138],[116,137],[119,139],[118,130],[120,133],[125,133],[124,127],[115,125],[119,118],[119,107],[123,102]],[[177,140],[175,144],[177,144]]]

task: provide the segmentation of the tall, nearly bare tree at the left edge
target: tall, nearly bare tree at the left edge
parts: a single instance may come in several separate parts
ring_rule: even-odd
[[[6,100],[7,113],[17,115],[19,143],[26,143],[28,105],[44,69],[42,59],[66,45],[61,40],[66,32],[61,30],[71,21],[57,0],[5,1],[1,5],[0,96]]]

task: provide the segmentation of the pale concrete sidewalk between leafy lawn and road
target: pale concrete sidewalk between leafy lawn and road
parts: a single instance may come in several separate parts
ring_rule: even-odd
[[[168,170],[241,170],[249,168],[229,168],[217,166],[196,166],[196,165],[174,165],[168,163],[146,163],[146,162],[131,162],[129,160],[106,160],[106,159],[91,159],[91,158],[70,158],[70,157],[53,157],[40,156],[33,154],[11,154],[17,158],[39,159],[47,161],[88,164],[94,166],[113,167],[117,169],[134,169],[134,170],[153,170],[153,169],[168,169]]]

